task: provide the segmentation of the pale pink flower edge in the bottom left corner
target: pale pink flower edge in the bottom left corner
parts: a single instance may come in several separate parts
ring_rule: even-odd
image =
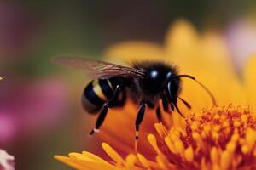
[[[0,170],[15,170],[15,157],[0,149]]]

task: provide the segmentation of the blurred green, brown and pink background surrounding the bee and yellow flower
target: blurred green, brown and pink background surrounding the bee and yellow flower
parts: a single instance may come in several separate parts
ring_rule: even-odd
[[[56,54],[100,59],[113,43],[163,43],[172,21],[223,33],[241,70],[256,48],[256,1],[0,1],[0,149],[16,169],[68,169],[55,154],[95,150],[87,133],[95,117],[82,111],[89,81],[80,71],[53,65]],[[239,48],[244,48],[241,51]]]

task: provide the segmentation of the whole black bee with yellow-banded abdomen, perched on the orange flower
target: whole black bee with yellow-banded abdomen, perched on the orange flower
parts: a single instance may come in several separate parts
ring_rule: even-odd
[[[181,90],[180,78],[187,77],[198,82],[195,77],[190,75],[179,75],[176,67],[163,62],[141,62],[127,67],[69,56],[55,57],[53,61],[74,69],[89,71],[93,80],[84,89],[82,105],[84,110],[89,113],[100,112],[90,135],[99,131],[107,116],[108,108],[124,105],[126,94],[129,94],[129,97],[139,104],[135,122],[136,139],[138,139],[138,131],[143,121],[146,106],[150,109],[156,109],[159,121],[161,121],[160,99],[164,111],[176,110],[183,116],[178,109],[177,99],[180,99],[189,109],[191,106],[178,96]],[[216,102],[212,93],[201,82],[198,83],[202,88],[205,88],[212,98],[213,105],[215,105]]]

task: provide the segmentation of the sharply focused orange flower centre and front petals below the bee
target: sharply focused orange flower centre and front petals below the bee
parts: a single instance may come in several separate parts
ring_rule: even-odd
[[[247,109],[228,105],[191,115],[180,127],[167,129],[155,123],[158,136],[148,134],[154,161],[141,153],[123,159],[102,143],[111,161],[84,151],[69,157],[55,156],[75,169],[254,169],[256,168],[256,116]]]

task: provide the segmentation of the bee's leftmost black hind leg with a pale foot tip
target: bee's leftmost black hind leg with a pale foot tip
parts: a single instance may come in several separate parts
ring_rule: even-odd
[[[114,89],[113,91],[113,97],[111,100],[109,100],[108,102],[106,102],[103,106],[102,106],[102,110],[100,111],[100,114],[96,120],[96,124],[95,127],[90,131],[89,135],[93,135],[94,133],[98,133],[100,127],[102,126],[102,123],[105,120],[105,117],[107,116],[108,113],[108,108],[113,107],[115,105],[115,99],[117,98],[117,96],[119,95],[121,88],[119,88],[119,85],[117,85],[117,87]]]

